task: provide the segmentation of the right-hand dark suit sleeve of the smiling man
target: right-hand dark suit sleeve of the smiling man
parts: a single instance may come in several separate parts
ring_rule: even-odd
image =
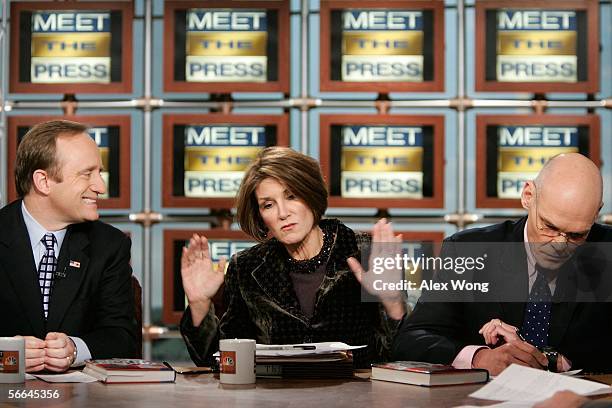
[[[121,243],[103,271],[94,306],[91,329],[83,339],[94,359],[140,355],[137,350],[130,239],[121,234]]]

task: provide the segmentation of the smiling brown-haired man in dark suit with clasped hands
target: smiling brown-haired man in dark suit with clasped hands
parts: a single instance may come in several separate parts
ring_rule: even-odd
[[[106,187],[87,128],[33,127],[17,150],[21,199],[0,210],[0,336],[23,336],[26,370],[135,357],[130,240],[98,219]]]

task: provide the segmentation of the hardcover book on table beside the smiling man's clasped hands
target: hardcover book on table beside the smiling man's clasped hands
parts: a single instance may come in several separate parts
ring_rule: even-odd
[[[83,373],[106,384],[174,382],[176,373],[161,363],[138,359],[87,360]]]

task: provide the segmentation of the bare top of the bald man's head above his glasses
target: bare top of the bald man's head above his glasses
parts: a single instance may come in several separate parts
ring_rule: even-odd
[[[596,214],[601,207],[603,181],[599,168],[579,153],[561,154],[550,159],[535,179],[542,201],[559,207],[562,213]]]

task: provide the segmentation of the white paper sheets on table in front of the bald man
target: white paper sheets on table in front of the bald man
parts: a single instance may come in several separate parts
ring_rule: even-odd
[[[494,401],[535,402],[563,390],[581,395],[612,393],[612,387],[607,385],[512,364],[493,381],[470,394],[470,397]]]

